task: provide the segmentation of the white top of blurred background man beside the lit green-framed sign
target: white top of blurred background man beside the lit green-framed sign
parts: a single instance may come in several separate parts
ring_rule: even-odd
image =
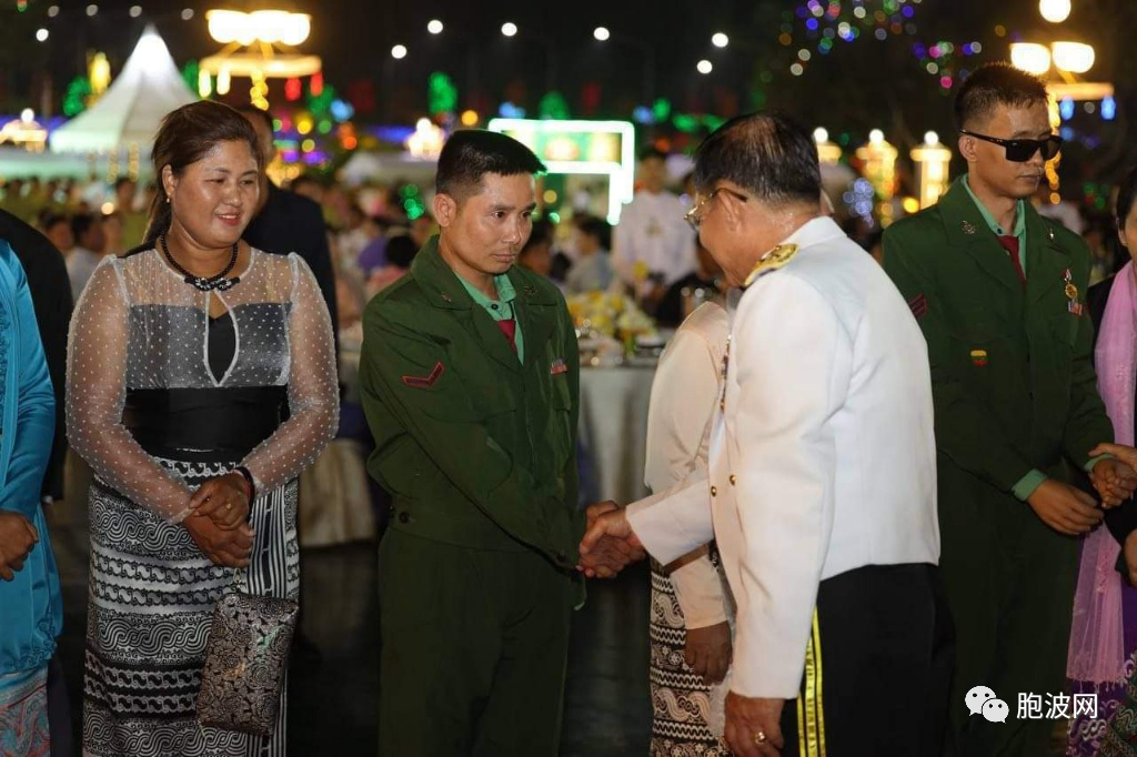
[[[637,192],[620,214],[613,231],[612,265],[629,286],[636,285],[636,264],[671,284],[695,269],[695,232],[687,208],[671,192]]]

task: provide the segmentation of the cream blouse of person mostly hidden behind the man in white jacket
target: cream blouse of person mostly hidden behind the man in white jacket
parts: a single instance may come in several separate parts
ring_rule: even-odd
[[[647,456],[644,483],[662,492],[696,472],[705,475],[711,447],[711,422],[722,393],[722,356],[730,323],[715,303],[698,307],[675,332],[659,358],[652,382],[647,414]],[[688,629],[727,621],[722,577],[706,547],[696,559],[670,573],[675,599]]]

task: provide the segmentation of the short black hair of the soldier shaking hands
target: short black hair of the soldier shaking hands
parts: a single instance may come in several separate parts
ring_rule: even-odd
[[[434,191],[460,200],[476,193],[485,174],[540,173],[545,173],[545,164],[517,140],[497,132],[467,128],[451,134],[442,145]]]

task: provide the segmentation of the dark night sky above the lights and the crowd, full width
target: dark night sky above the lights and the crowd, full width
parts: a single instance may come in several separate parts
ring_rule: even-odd
[[[88,50],[106,51],[117,73],[148,19],[158,25],[181,65],[219,48],[206,32],[206,9],[291,6],[313,15],[313,33],[301,50],[324,59],[326,82],[341,93],[359,82],[371,83],[380,103],[377,113],[365,116],[373,123],[412,123],[424,115],[426,80],[435,70],[455,81],[462,108],[473,106],[484,113],[509,100],[532,113],[551,83],[564,93],[573,115],[628,118],[645,101],[645,65],[654,58],[653,94],[666,98],[678,110],[732,115],[780,108],[828,124],[830,131],[863,135],[883,127],[904,143],[919,141],[928,128],[951,128],[951,90],[941,91],[940,75],[924,70],[913,55],[915,45],[981,42],[981,55],[966,60],[957,56],[953,61],[952,81],[957,82],[960,69],[1005,57],[1013,36],[1047,41],[1057,39],[1061,30],[1062,38],[1092,42],[1098,55],[1093,78],[1113,81],[1119,88],[1121,115],[1114,130],[1119,135],[1105,134],[1102,144],[1095,144],[1095,150],[1112,151],[1101,160],[1115,163],[1134,150],[1131,140],[1123,139],[1123,124],[1132,110],[1137,74],[1119,55],[1137,33],[1132,0],[1073,0],[1074,13],[1061,27],[1040,19],[1036,0],[906,0],[891,9],[910,6],[905,22],[914,24],[915,33],[878,41],[870,31],[849,43],[837,40],[824,56],[816,40],[806,41],[796,17],[792,43],[779,43],[782,13],[805,1],[99,0],[100,11],[88,17],[89,0],[30,0],[23,14],[16,13],[16,0],[0,0],[0,113],[35,105],[27,99],[43,72],[50,72],[58,102],[66,83],[82,73]],[[845,13],[863,5],[871,14],[896,2],[843,0],[840,5]],[[51,5],[61,9],[55,19],[47,18]],[[127,14],[133,5],[143,9],[138,19]],[[181,19],[186,7],[196,10],[190,22]],[[426,32],[431,18],[446,24],[441,35]],[[521,30],[509,40],[499,32],[507,20]],[[592,30],[601,24],[612,30],[614,41],[601,44],[592,39]],[[1005,35],[996,34],[998,25]],[[40,26],[51,32],[43,44],[34,41]],[[711,44],[716,31],[731,38],[725,50]],[[625,42],[617,44],[616,38]],[[390,57],[396,43],[409,50],[404,60]],[[789,65],[797,61],[799,48],[810,50],[813,60],[804,75],[791,76]],[[702,58],[714,64],[708,76],[695,70]]]

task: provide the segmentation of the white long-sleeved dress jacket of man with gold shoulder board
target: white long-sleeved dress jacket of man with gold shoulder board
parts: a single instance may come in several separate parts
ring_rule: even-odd
[[[792,699],[818,585],[866,565],[936,564],[936,440],[923,335],[829,218],[731,318],[709,469],[628,508],[661,563],[717,539],[738,607],[731,691]]]

